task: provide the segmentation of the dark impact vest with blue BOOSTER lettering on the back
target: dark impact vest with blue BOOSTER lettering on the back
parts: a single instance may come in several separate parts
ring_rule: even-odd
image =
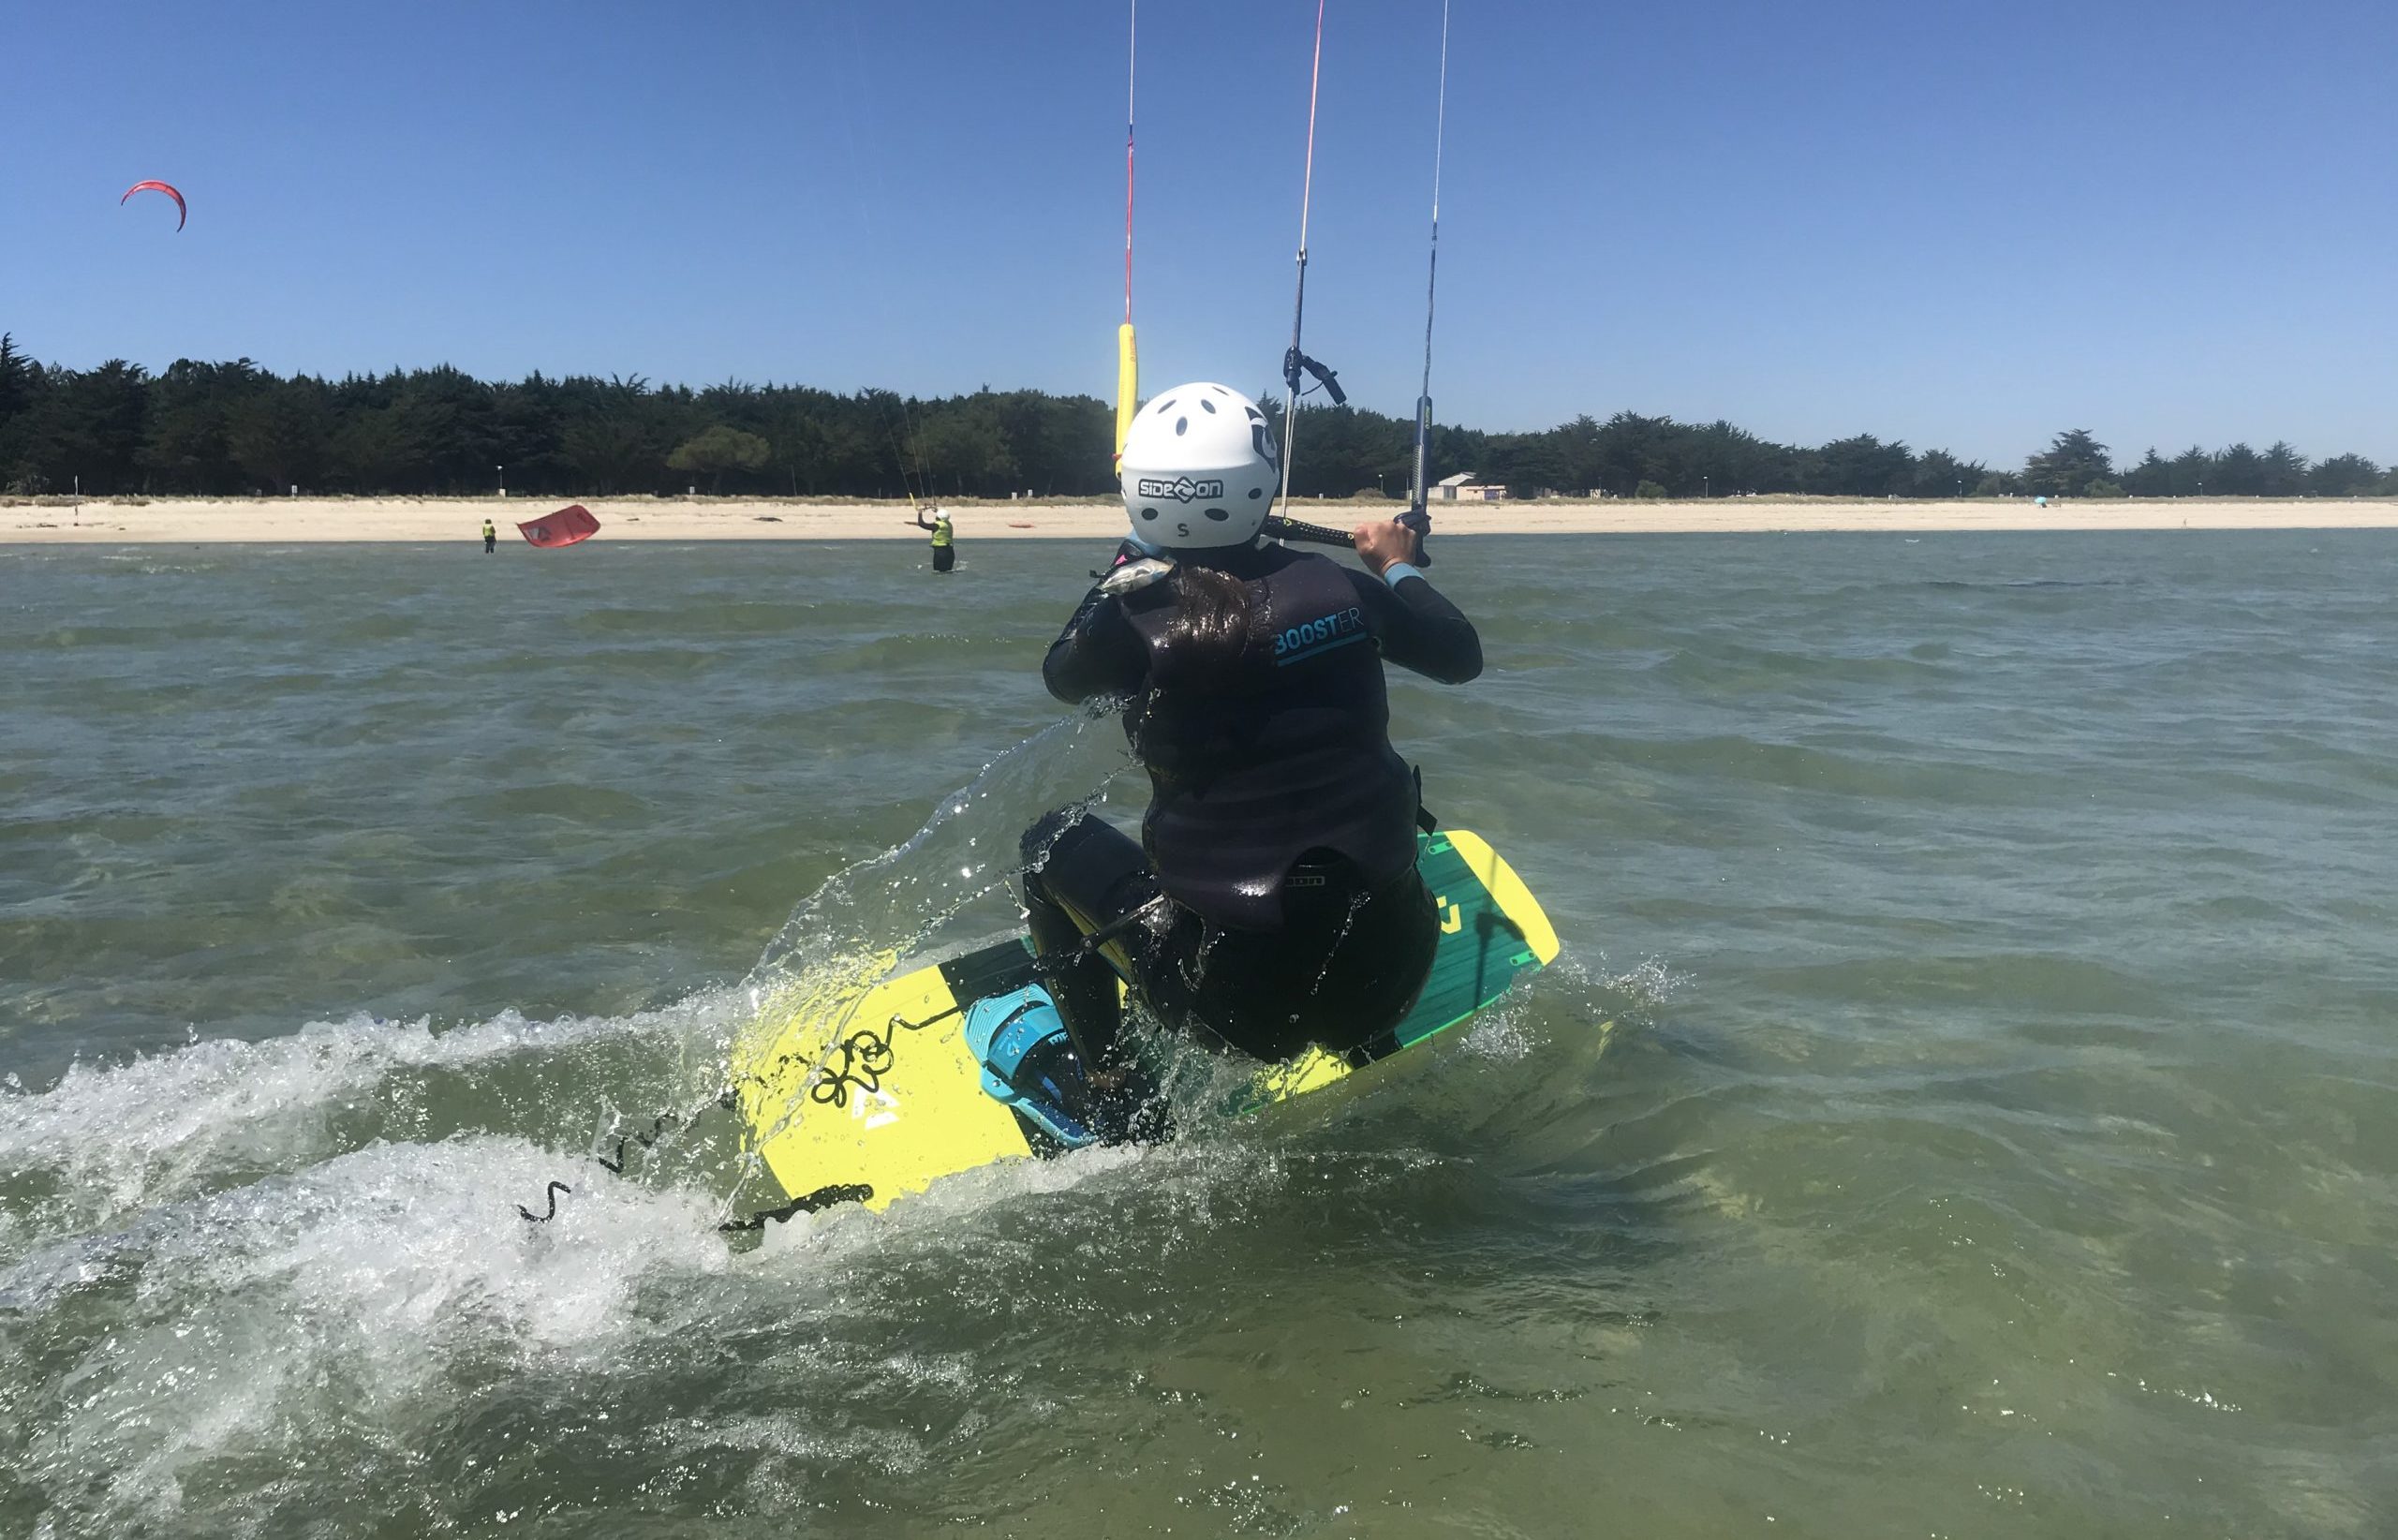
[[[1182,907],[1276,931],[1283,878],[1307,852],[1350,861],[1372,888],[1415,866],[1415,777],[1391,748],[1381,648],[1348,573],[1326,557],[1266,552],[1233,667],[1182,657],[1168,631],[1177,583],[1125,597],[1149,679],[1125,734],[1149,768],[1141,844]]]

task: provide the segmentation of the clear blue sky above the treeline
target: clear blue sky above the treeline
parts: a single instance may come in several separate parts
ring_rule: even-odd
[[[1141,7],[1151,389],[1276,372],[1312,17]],[[1436,36],[1331,0],[1307,345],[1391,413]],[[19,2],[0,60],[43,360],[1113,391],[1120,2]],[[1441,216],[1444,420],[2398,458],[2391,0],[1456,0]]]

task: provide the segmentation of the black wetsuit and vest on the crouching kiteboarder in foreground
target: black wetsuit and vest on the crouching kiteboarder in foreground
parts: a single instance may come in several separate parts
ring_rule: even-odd
[[[1113,1060],[1115,974],[1170,1024],[1257,1058],[1343,1051],[1415,1005],[1439,940],[1381,664],[1463,684],[1482,640],[1422,576],[1391,588],[1285,547],[1187,561],[1245,583],[1237,660],[1177,648],[1170,578],[1093,588],[1041,664],[1060,700],[1127,700],[1153,796],[1141,844],[1091,816],[1026,832],[1034,945],[1086,1063]],[[1105,955],[1081,945],[1134,909]]]

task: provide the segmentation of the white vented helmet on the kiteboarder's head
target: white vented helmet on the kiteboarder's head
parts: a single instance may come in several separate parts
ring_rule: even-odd
[[[1197,552],[1257,540],[1281,473],[1266,413],[1201,381],[1141,408],[1125,434],[1120,477],[1139,540]]]

